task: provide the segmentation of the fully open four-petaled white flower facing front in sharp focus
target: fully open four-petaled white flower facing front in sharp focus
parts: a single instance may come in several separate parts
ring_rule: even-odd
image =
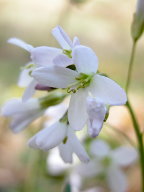
[[[86,101],[89,94],[104,105],[125,104],[127,97],[117,83],[96,74],[98,59],[92,49],[76,46],[72,58],[77,71],[59,66],[41,67],[34,70],[32,76],[43,85],[67,88],[67,91],[72,93],[68,120],[74,130],[81,130],[88,119]]]

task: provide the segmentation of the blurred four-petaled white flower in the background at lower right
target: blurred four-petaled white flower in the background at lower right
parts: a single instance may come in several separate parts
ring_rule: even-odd
[[[127,180],[122,168],[136,161],[137,151],[128,146],[112,150],[106,142],[97,139],[91,144],[91,153],[94,159],[80,165],[77,172],[84,178],[104,174],[111,192],[126,192]]]

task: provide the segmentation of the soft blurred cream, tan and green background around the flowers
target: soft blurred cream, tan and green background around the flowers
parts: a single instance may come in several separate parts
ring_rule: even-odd
[[[132,46],[130,26],[135,10],[135,0],[0,0],[0,105],[11,97],[19,97],[23,89],[16,83],[20,68],[29,61],[29,53],[7,43],[10,37],[18,37],[33,46],[59,46],[51,35],[51,29],[61,25],[70,37],[78,36],[81,44],[92,47],[99,58],[99,69],[124,87]],[[144,129],[144,37],[138,44],[130,86],[130,99]],[[108,119],[113,126],[135,136],[127,110],[113,107]],[[32,127],[40,127],[42,119]],[[35,128],[36,129],[36,128]],[[108,133],[107,133],[108,132]],[[115,135],[106,131],[108,136]],[[41,152],[28,149],[26,141],[30,133],[14,135],[9,121],[0,119],[0,191],[59,192],[64,175],[51,177],[47,174],[45,156],[35,170],[35,159]],[[41,176],[45,175],[45,176]],[[139,191],[139,170],[129,174],[130,192]],[[38,179],[39,176],[39,179]],[[23,187],[24,186],[24,187]],[[27,188],[28,187],[28,188]]]

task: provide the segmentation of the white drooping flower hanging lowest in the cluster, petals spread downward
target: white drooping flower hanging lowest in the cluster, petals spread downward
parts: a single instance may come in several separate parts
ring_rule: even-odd
[[[36,149],[48,151],[59,146],[60,156],[66,163],[72,163],[73,153],[82,162],[88,162],[89,157],[75,136],[73,129],[64,122],[57,122],[50,127],[46,127],[28,142],[29,146]]]

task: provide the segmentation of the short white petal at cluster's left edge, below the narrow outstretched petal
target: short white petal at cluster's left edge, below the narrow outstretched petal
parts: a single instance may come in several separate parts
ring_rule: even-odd
[[[31,63],[28,63],[26,66],[30,65]],[[25,68],[21,71],[19,80],[18,80],[18,86],[19,87],[27,87],[33,78],[29,75],[29,72],[32,70],[32,68]]]

